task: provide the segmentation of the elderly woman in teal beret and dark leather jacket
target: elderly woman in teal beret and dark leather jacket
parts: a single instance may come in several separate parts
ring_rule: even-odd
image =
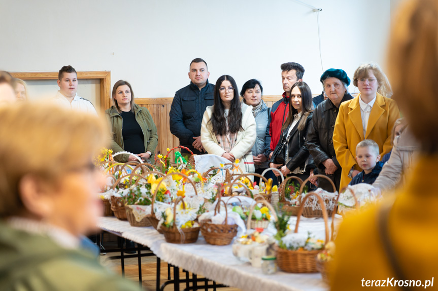
[[[311,183],[324,190],[333,191],[327,180],[313,177],[314,174],[326,175],[339,191],[342,169],[336,159],[332,137],[339,106],[342,102],[353,99],[348,93],[350,78],[344,70],[328,69],[321,75],[320,80],[328,98],[316,107],[307,133],[306,144],[317,167],[310,174]]]

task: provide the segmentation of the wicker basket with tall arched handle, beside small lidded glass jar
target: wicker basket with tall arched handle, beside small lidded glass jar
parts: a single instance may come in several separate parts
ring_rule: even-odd
[[[299,207],[297,219],[296,219],[296,225],[295,225],[295,233],[298,232],[298,225],[299,220],[301,218],[302,211],[304,210],[304,202],[310,197],[310,196],[316,196],[319,203],[321,203],[321,207],[323,209],[323,218],[324,218],[324,224],[325,224],[325,242],[328,241],[328,216],[325,212],[325,205],[322,198],[314,193],[310,192],[309,194],[302,199],[301,206]],[[277,264],[279,268],[285,272],[288,273],[316,273],[316,256],[318,253],[321,252],[321,250],[314,250],[314,251],[306,251],[306,250],[299,250],[299,251],[290,251],[290,250],[284,250],[283,248],[277,247]]]

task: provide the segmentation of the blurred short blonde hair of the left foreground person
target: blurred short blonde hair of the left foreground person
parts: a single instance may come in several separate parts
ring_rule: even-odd
[[[0,217],[24,210],[19,184],[33,175],[55,184],[105,141],[105,122],[98,117],[45,103],[22,102],[0,108]]]

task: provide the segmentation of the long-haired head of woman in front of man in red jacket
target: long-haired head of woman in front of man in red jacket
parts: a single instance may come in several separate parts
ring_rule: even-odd
[[[301,113],[298,130],[303,130],[306,126],[307,116],[313,111],[312,91],[306,82],[296,82],[292,85],[289,96],[289,115],[283,124],[282,130],[287,129],[292,124],[294,115],[297,113]]]

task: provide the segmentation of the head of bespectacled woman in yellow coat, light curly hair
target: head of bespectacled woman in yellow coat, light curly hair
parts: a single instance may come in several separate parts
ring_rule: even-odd
[[[388,78],[378,64],[368,63],[360,65],[353,75],[353,85],[359,89],[362,95],[376,95],[379,93],[385,97],[391,97],[391,85]]]

